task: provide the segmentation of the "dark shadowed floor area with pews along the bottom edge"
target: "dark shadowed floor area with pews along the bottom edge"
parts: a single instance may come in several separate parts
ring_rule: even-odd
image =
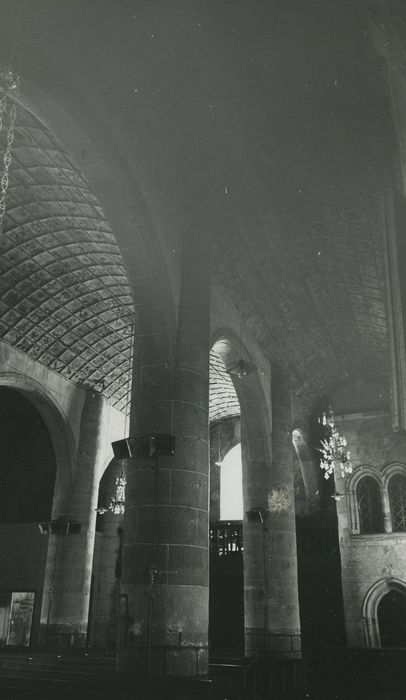
[[[110,654],[0,652],[0,700],[404,700],[406,652],[320,650],[296,687],[275,668],[214,664],[210,679],[140,681]]]

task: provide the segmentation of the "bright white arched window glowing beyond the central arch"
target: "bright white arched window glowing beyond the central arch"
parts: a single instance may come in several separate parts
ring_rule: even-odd
[[[223,459],[220,471],[220,520],[242,520],[241,445],[235,445]]]

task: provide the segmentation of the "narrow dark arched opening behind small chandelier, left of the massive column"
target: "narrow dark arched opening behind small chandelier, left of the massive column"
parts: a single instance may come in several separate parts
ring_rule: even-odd
[[[117,644],[124,514],[109,505],[121,471],[121,462],[113,459],[100,479],[89,609],[90,645],[111,650]]]

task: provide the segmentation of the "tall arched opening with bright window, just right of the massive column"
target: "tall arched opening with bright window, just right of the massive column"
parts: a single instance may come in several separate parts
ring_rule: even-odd
[[[212,659],[239,658],[244,639],[240,406],[215,348],[210,354],[210,598]]]

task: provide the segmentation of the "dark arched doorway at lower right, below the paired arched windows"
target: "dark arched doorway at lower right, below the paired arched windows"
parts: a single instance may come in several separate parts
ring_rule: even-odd
[[[378,605],[381,646],[406,647],[406,591],[391,588]]]

